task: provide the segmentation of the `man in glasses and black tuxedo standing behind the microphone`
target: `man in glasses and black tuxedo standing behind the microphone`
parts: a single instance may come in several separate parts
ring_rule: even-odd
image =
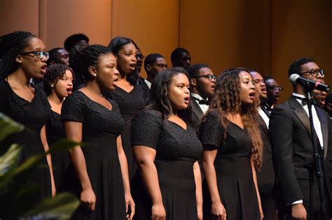
[[[303,78],[317,81],[324,77],[314,60],[301,58],[293,61],[289,75],[298,73]],[[293,85],[292,96],[277,105],[270,116],[269,134],[272,155],[277,174],[281,202],[279,219],[307,219],[310,211],[310,166],[313,165],[313,147],[310,120],[306,101],[307,89]],[[328,183],[328,149],[332,147],[332,127],[328,114],[321,108],[312,106],[314,131],[317,134],[318,152],[321,155],[324,175],[324,198],[326,210],[330,212],[331,189]],[[326,219],[321,215],[319,188],[314,175],[313,196],[311,198],[313,219]]]

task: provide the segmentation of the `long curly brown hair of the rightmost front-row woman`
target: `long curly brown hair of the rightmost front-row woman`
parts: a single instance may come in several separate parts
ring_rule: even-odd
[[[252,105],[241,104],[239,77],[241,71],[250,74],[247,68],[230,68],[221,73],[218,80],[216,80],[214,95],[212,96],[209,110],[207,112],[219,112],[220,123],[225,128],[225,136],[229,124],[227,115],[241,115],[244,127],[247,129],[252,141],[254,165],[259,170],[262,166],[263,160],[263,142],[261,140],[257,122],[259,98],[258,96],[255,96]]]

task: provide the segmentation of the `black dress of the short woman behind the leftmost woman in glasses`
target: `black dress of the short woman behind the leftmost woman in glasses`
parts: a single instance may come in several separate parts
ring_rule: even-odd
[[[53,110],[48,112],[46,121],[46,137],[48,145],[52,147],[55,142],[65,138],[64,128],[61,122],[61,115]],[[68,151],[54,152],[52,154],[53,177],[57,192],[62,191],[66,181],[67,170],[70,164]]]

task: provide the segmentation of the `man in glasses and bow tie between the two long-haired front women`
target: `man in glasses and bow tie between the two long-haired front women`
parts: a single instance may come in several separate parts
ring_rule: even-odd
[[[198,128],[200,119],[209,108],[209,98],[214,94],[216,76],[205,64],[189,66],[187,71],[191,77],[191,106],[193,108],[193,124]]]

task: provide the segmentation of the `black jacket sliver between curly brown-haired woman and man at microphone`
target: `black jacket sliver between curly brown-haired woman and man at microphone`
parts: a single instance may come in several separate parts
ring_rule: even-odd
[[[258,115],[258,129],[263,141],[263,166],[257,171],[257,182],[260,193],[268,193],[275,186],[275,170],[272,163],[272,149],[268,136],[268,126],[266,126],[261,115]]]

